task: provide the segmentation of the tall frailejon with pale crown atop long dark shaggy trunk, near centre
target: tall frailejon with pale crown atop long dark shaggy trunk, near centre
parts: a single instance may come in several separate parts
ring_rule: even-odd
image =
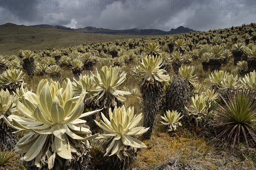
[[[143,98],[143,126],[150,127],[143,136],[150,138],[154,130],[155,117],[159,111],[163,85],[169,81],[166,70],[161,69],[163,60],[160,57],[146,56],[135,67],[135,78],[139,80],[140,92]]]

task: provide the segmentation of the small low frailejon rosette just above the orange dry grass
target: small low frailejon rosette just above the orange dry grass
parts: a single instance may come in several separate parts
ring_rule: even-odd
[[[184,116],[180,116],[180,112],[177,112],[176,110],[170,110],[166,111],[166,114],[164,114],[164,117],[161,116],[161,118],[164,120],[160,121],[162,124],[169,125],[169,132],[175,131],[177,127],[182,126],[179,120]]]

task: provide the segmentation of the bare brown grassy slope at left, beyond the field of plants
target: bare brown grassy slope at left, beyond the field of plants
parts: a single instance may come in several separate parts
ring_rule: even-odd
[[[14,54],[20,49],[43,50],[47,48],[62,48],[81,43],[128,39],[130,37],[134,36],[85,34],[60,29],[18,26],[9,23],[0,26],[0,55]]]

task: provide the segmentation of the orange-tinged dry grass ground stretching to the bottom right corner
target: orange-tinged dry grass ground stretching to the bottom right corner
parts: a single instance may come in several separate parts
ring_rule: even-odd
[[[204,135],[200,135],[202,129],[198,127],[182,127],[175,133],[157,129],[151,140],[142,140],[148,148],[138,152],[130,169],[137,167],[140,170],[159,170],[169,164],[196,170],[256,170],[252,159],[255,158],[252,155],[255,150],[249,155],[244,150],[243,155],[240,149],[234,153],[230,148],[216,147],[214,142],[209,142],[204,139]]]

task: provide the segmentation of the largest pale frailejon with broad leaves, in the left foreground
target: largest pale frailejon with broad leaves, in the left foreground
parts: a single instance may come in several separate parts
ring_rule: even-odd
[[[17,130],[28,133],[18,141],[15,153],[27,168],[85,169],[90,151],[91,135],[82,117],[100,110],[83,113],[84,92],[73,97],[69,79],[62,86],[43,79],[36,93],[26,92],[17,101],[17,110],[23,116],[10,115],[8,120]]]

